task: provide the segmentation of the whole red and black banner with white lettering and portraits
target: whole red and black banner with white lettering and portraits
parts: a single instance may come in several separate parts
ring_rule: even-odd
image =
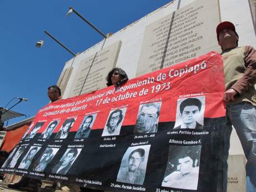
[[[210,52],[53,102],[1,171],[110,191],[216,191],[223,93],[223,61]]]

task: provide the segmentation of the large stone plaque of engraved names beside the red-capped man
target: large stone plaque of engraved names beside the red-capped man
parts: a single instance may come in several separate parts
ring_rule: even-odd
[[[136,76],[210,51],[220,51],[218,42],[213,41],[219,22],[218,0],[198,0],[149,24],[145,29]]]

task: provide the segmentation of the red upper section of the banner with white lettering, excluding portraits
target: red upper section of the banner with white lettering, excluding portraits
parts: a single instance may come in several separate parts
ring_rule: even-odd
[[[37,121],[60,120],[57,132],[67,118],[76,121],[70,131],[77,131],[85,115],[97,114],[92,129],[104,129],[109,112],[125,109],[122,125],[135,125],[140,105],[161,102],[159,122],[176,120],[176,106],[187,97],[204,97],[204,117],[225,116],[221,106],[224,92],[221,56],[210,52],[205,56],[174,67],[149,73],[128,81],[124,86],[106,87],[85,95],[54,102],[43,107]],[[45,124],[38,132],[43,132]]]

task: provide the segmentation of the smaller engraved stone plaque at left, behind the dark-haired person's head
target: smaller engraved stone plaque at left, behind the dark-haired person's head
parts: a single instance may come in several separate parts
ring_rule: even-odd
[[[81,95],[106,87],[106,74],[116,65],[121,41],[97,51],[93,55],[82,58],[78,63],[75,77],[68,97]]]

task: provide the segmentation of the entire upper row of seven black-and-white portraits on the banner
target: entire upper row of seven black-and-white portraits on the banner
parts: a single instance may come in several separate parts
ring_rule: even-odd
[[[134,133],[155,133],[159,123],[161,109],[160,102],[151,102],[147,104],[141,104],[137,114],[136,124],[134,127]],[[120,134],[122,122],[125,119],[127,108],[111,110],[107,118],[104,130],[101,136],[114,136]],[[189,97],[178,99],[176,109],[176,120],[174,129],[203,129],[204,125],[204,111],[205,111],[205,96]],[[96,120],[97,114],[86,115],[83,117],[81,125],[76,132],[75,138],[87,138],[90,135],[92,125]],[[73,126],[76,118],[68,118],[65,120],[61,129],[58,131],[55,139],[65,139]],[[38,130],[43,126],[45,122],[37,122],[31,132],[27,134],[28,130],[32,128],[32,125],[24,134],[23,138],[33,138]],[[42,139],[49,139],[53,131],[56,129],[60,120],[51,121],[45,131],[39,136]]]

